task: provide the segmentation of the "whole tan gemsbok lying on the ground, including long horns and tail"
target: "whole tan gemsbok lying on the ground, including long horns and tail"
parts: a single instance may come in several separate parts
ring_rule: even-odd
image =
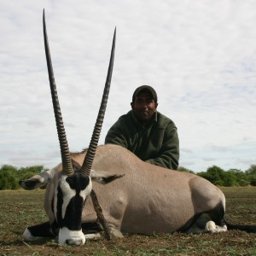
[[[44,20],[44,19],[43,19]],[[256,232],[256,225],[232,225],[224,219],[223,192],[206,179],[189,172],[153,166],[117,145],[97,147],[113,70],[115,33],[102,103],[90,146],[70,153],[49,55],[44,20],[44,45],[61,164],[20,181],[24,189],[47,184],[44,209],[49,222],[28,227],[26,241],[58,236],[59,243],[82,245],[102,231],[90,193],[96,192],[112,237],[137,234],[222,232],[228,229]],[[102,185],[104,184],[104,185]],[[84,235],[85,234],[85,235]]]

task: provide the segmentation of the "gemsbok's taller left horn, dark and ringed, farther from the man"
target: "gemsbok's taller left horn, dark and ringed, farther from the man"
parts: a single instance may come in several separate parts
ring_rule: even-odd
[[[67,144],[67,137],[66,132],[64,128],[64,124],[61,117],[61,107],[58,99],[56,84],[55,84],[55,76],[53,73],[51,58],[49,54],[49,42],[46,32],[46,25],[45,25],[45,18],[43,15],[43,24],[44,24],[44,48],[45,48],[45,55],[46,55],[46,61],[47,61],[47,67],[48,67],[48,74],[49,74],[49,87],[52,97],[52,103],[53,108],[55,111],[55,121],[56,121],[56,127],[58,131],[58,137],[60,142],[60,148],[61,148],[61,160],[62,160],[62,166],[63,166],[63,173],[66,175],[73,174],[73,166],[71,161],[71,156]]]

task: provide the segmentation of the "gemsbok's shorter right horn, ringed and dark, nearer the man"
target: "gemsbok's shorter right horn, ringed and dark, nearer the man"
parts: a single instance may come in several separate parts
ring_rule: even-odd
[[[90,169],[92,166],[92,162],[94,159],[94,156],[96,154],[96,147],[100,138],[100,133],[102,131],[102,123],[105,115],[105,111],[107,108],[107,102],[108,102],[108,93],[109,88],[111,84],[111,78],[112,78],[112,72],[113,72],[113,57],[114,57],[114,48],[115,48],[115,34],[116,34],[116,28],[114,29],[113,33],[113,43],[112,43],[112,49],[111,49],[111,56],[110,61],[108,65],[108,75],[105,83],[104,92],[102,95],[102,103],[101,107],[99,109],[99,113],[96,119],[96,124],[94,126],[94,131],[92,133],[91,139],[90,139],[90,146],[87,150],[87,154],[84,158],[83,166],[81,167],[81,172],[84,175],[90,176]]]

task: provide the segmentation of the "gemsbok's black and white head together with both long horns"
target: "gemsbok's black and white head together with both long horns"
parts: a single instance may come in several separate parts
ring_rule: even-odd
[[[44,48],[49,73],[49,85],[55,112],[55,123],[61,148],[62,162],[62,172],[60,172],[60,175],[55,177],[55,198],[52,205],[55,215],[55,230],[58,232],[58,240],[60,243],[80,245],[84,244],[85,241],[81,228],[82,211],[84,208],[84,201],[88,195],[90,195],[92,189],[90,170],[94,156],[96,154],[96,147],[102,130],[102,123],[108,102],[108,93],[113,72],[116,30],[113,34],[113,44],[108,66],[108,75],[102,96],[101,107],[96,119],[96,125],[90,140],[90,146],[87,150],[87,154],[84,157],[83,164],[79,165],[78,162],[72,160],[68,148],[66,132],[61,117],[61,107],[59,104],[55,85],[55,76],[49,53],[49,42],[46,31],[45,15],[43,15],[43,23]]]

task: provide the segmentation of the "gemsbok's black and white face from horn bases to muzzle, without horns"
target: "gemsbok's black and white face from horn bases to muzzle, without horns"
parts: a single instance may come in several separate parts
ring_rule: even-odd
[[[82,245],[85,242],[81,227],[84,201],[92,189],[90,177],[77,172],[62,175],[55,189],[54,212],[59,225],[59,243]]]

